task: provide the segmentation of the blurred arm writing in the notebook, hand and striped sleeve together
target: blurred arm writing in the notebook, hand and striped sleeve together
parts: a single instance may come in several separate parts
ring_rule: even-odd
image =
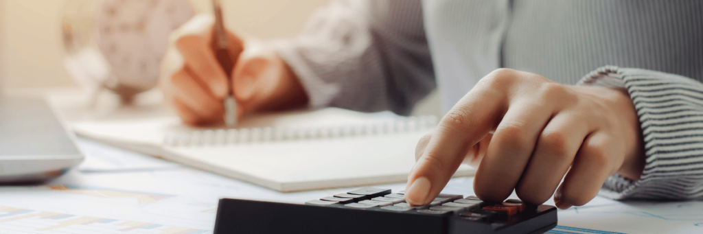
[[[435,88],[419,0],[333,1],[297,37],[228,37],[232,87],[210,49],[212,17],[193,18],[169,39],[160,87],[183,122],[221,122],[228,89],[242,117],[302,105],[408,114]]]

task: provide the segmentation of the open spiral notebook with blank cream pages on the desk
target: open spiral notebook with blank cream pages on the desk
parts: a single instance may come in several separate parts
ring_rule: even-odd
[[[326,108],[193,129],[178,119],[72,124],[80,136],[283,192],[404,182],[435,117]],[[470,176],[461,166],[455,176]]]

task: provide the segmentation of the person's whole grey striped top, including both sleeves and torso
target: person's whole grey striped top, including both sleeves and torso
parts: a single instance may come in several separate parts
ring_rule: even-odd
[[[438,88],[447,110],[498,67],[624,87],[646,165],[600,194],[703,197],[703,1],[333,1],[271,45],[314,108],[408,114]]]

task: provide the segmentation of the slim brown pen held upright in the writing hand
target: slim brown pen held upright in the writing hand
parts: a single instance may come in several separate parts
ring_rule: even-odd
[[[227,75],[227,96],[224,98],[224,122],[226,126],[233,127],[237,124],[237,101],[234,99],[232,86],[232,68],[234,63],[227,50],[228,41],[222,20],[222,8],[219,0],[212,0],[212,9],[215,15],[214,29],[212,30],[213,48],[217,61]]]

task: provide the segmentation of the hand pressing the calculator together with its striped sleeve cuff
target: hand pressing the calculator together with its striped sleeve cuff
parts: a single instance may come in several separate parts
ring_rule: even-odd
[[[703,84],[678,75],[602,67],[568,86],[496,70],[420,140],[406,200],[432,201],[461,162],[479,165],[482,200],[701,198],[702,124]]]

